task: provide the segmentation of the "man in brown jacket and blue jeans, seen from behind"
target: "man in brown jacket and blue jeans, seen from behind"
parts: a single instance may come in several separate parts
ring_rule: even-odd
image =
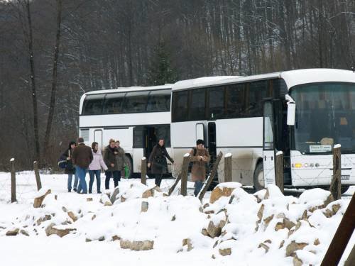
[[[75,164],[75,171],[79,177],[79,187],[77,193],[87,194],[87,182],[85,176],[87,168],[94,159],[92,150],[89,146],[85,145],[84,138],[78,138],[77,148],[72,153],[72,162]]]

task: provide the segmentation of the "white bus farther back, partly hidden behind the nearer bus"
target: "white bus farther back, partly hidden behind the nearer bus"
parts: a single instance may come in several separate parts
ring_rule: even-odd
[[[171,86],[129,87],[88,92],[80,99],[80,136],[100,148],[119,140],[129,161],[129,175],[141,172],[158,138],[170,152]]]

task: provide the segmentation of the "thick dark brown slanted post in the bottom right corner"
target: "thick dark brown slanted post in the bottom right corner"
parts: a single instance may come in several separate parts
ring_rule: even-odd
[[[338,265],[346,245],[348,245],[355,228],[355,194],[346,208],[342,221],[334,234],[333,240],[325,253],[321,266]],[[354,264],[353,264],[354,265]]]

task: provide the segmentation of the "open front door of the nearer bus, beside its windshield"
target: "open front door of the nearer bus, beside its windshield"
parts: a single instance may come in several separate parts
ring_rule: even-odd
[[[275,184],[275,117],[273,101],[263,104],[263,173],[264,185]]]

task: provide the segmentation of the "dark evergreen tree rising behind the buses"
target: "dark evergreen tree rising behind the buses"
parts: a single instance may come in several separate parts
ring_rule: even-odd
[[[151,62],[146,77],[147,86],[158,86],[178,81],[178,74],[171,66],[170,55],[164,41],[160,41],[155,47]]]

